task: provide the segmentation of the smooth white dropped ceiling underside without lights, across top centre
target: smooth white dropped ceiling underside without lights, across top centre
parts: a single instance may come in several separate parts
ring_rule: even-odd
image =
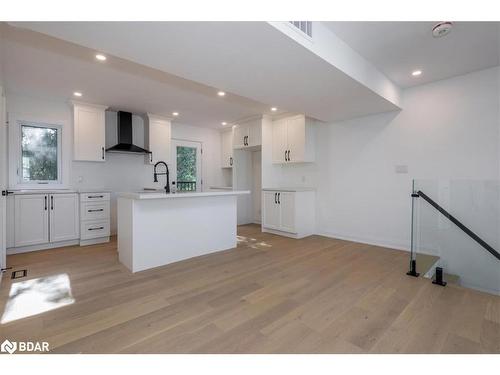
[[[274,105],[323,121],[397,109],[267,22],[23,22],[14,25],[267,103],[267,109]],[[196,109],[200,115],[206,110],[214,111],[199,106],[196,101],[177,104],[181,105]],[[235,120],[231,113],[225,117]]]

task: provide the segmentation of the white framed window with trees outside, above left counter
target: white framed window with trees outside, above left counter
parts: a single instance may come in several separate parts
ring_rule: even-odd
[[[19,121],[18,184],[62,184],[62,126]]]

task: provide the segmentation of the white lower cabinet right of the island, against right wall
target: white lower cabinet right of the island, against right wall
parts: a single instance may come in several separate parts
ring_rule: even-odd
[[[293,238],[314,234],[315,192],[265,189],[263,195],[262,230]]]

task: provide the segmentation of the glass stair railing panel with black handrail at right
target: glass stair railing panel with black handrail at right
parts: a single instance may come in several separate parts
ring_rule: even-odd
[[[414,180],[412,276],[500,295],[499,181]]]

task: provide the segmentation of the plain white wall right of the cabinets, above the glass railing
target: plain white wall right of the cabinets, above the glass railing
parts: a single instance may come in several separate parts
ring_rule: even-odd
[[[417,86],[400,112],[318,126],[317,232],[408,249],[412,178],[498,179],[498,74]]]

